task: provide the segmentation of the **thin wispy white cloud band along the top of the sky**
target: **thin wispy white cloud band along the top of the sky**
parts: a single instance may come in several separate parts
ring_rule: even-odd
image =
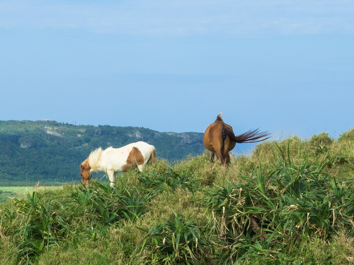
[[[353,34],[352,0],[3,1],[0,28],[130,35]]]

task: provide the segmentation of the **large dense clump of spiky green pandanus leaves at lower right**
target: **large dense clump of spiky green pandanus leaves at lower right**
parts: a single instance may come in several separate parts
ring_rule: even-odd
[[[259,258],[261,253],[263,263],[273,262],[281,249],[304,236],[328,238],[343,227],[353,233],[354,191],[324,172],[329,161],[295,165],[289,148],[288,157],[281,154],[278,161],[278,169],[264,173],[259,168],[252,177],[243,176],[245,184],[207,192],[226,260]]]

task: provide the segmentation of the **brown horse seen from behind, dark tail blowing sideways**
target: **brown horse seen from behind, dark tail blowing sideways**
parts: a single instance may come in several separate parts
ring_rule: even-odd
[[[255,143],[270,138],[267,137],[267,132],[259,133],[258,129],[253,131],[249,130],[246,133],[235,136],[232,127],[229,124],[224,123],[221,114],[222,113],[219,113],[215,122],[206,128],[203,136],[203,144],[205,148],[211,151],[211,163],[213,163],[213,158],[216,153],[216,157],[222,164],[229,164],[229,151],[234,149],[236,143]]]

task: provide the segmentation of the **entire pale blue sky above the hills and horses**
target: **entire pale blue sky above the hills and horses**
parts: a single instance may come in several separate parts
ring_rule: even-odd
[[[353,1],[1,1],[0,120],[354,127]]]

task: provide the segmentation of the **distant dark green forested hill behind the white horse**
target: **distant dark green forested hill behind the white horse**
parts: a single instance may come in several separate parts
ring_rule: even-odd
[[[131,126],[0,121],[0,182],[81,180],[79,165],[93,149],[137,141],[154,145],[158,157],[174,161],[202,153],[202,137],[202,133],[160,133]]]

